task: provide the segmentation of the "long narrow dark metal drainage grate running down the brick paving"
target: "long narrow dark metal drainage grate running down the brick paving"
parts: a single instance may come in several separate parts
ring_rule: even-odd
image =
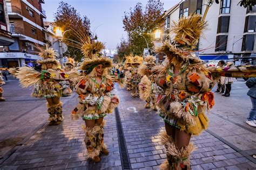
[[[120,120],[118,108],[114,109],[114,113],[116,115],[116,121],[117,121],[118,143],[119,143],[119,151],[120,151],[120,157],[122,162],[122,169],[131,169],[129,154],[127,152],[123,126]]]

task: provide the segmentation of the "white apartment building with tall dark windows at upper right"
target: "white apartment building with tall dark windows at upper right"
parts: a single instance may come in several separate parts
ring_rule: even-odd
[[[208,29],[199,39],[196,52],[203,60],[254,60],[256,6],[250,11],[238,5],[240,0],[221,0],[210,7]],[[173,21],[193,13],[204,15],[206,0],[181,1],[165,12],[163,39],[169,39]]]

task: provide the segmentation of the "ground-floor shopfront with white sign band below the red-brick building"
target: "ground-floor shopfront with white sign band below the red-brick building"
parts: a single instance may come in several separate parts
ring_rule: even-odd
[[[24,67],[35,66],[37,60],[42,60],[38,55],[16,52],[16,53],[0,53],[0,67]]]

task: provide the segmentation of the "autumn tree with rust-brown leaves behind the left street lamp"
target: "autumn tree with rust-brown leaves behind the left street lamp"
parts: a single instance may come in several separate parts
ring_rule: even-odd
[[[63,1],[59,3],[57,12],[54,14],[55,26],[61,27],[65,40],[77,41],[77,37],[73,36],[72,30],[86,30],[90,32],[90,20],[86,16],[81,17],[79,12],[73,6]],[[68,51],[65,55],[69,55],[75,60],[80,61],[83,58],[82,52],[76,48],[68,45]]]

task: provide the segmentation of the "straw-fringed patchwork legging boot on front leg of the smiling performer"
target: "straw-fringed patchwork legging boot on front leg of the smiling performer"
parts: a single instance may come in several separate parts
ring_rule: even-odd
[[[82,125],[82,129],[85,132],[84,143],[87,149],[87,157],[98,163],[100,161],[99,132],[101,128],[99,125],[95,125],[93,128],[87,128],[86,125]]]

